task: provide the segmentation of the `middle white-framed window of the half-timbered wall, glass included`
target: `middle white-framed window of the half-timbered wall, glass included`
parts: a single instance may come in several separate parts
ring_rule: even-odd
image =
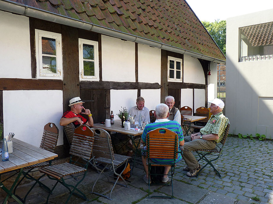
[[[99,80],[98,42],[79,38],[80,80]]]

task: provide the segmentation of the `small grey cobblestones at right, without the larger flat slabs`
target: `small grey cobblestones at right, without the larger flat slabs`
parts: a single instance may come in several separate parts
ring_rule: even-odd
[[[200,161],[200,164],[203,165],[204,162]],[[215,162],[215,167],[222,179],[209,165],[198,178],[187,177],[182,167],[179,167],[175,179],[247,203],[273,204],[272,140],[228,137],[223,155]],[[253,200],[253,197],[259,198],[260,201]]]

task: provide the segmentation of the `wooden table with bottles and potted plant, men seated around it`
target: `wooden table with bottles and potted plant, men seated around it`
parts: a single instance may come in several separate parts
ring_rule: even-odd
[[[112,131],[112,132],[119,132],[119,133],[128,135],[132,141],[132,145],[134,145],[136,150],[137,150],[140,140],[136,144],[134,142],[134,137],[136,137],[137,135],[142,135],[142,132],[143,132],[143,130],[139,130],[139,131],[134,131],[132,129],[131,130],[124,130],[124,127],[121,127],[121,120],[115,120],[115,123],[113,125],[111,125],[111,127],[105,127],[105,124],[102,125],[100,123],[94,124],[93,127],[98,127],[103,130]],[[126,141],[126,142],[128,142],[128,141]],[[136,152],[134,152],[134,153],[136,153]],[[134,156],[134,163],[135,163],[135,159],[136,159],[136,154]],[[133,171],[133,169],[134,169],[134,164],[133,164],[131,171]]]

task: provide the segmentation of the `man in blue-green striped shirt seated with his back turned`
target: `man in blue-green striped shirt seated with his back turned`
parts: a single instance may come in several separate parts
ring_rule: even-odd
[[[169,116],[169,107],[166,104],[160,103],[155,107],[155,117],[156,121],[154,123],[150,123],[146,125],[146,127],[143,130],[141,140],[140,142],[143,144],[146,144],[146,137],[147,133],[150,132],[151,130],[155,130],[160,127],[167,128],[173,132],[175,132],[178,135],[178,140],[179,140],[179,145],[183,146],[184,145],[184,137],[183,137],[183,132],[180,124],[176,121],[173,120],[168,120],[167,117]],[[178,158],[176,162],[179,162],[182,159],[181,154],[178,154]],[[172,162],[173,160],[169,159],[152,159],[154,162],[162,163],[162,164],[168,164]],[[143,180],[148,184],[148,165],[146,164],[146,157],[143,155],[142,156],[142,163],[144,166],[144,170],[146,175],[144,175]],[[162,178],[162,182],[166,183],[169,180],[168,177],[168,172],[170,170],[170,166],[166,166],[164,170],[164,176]],[[151,179],[150,179],[151,182]]]

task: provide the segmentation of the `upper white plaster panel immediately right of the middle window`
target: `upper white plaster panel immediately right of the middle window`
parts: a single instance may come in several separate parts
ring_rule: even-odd
[[[101,36],[103,81],[135,82],[135,43]]]

